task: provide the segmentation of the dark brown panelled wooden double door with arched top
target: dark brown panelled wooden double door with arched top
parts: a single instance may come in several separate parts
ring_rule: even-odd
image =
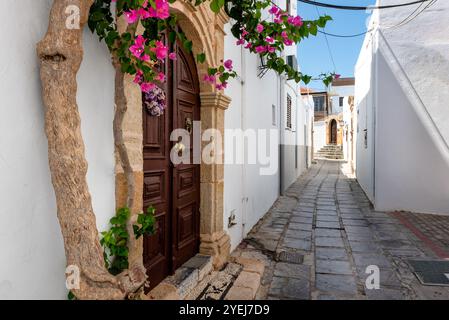
[[[167,108],[160,117],[143,107],[143,206],[156,209],[157,233],[144,239],[143,261],[154,288],[199,252],[200,165],[173,164],[170,134],[183,128],[191,132],[200,120],[198,72],[192,54],[181,43],[173,45],[177,60],[167,59],[167,81],[162,87]],[[193,132],[190,135],[193,146]],[[180,151],[183,152],[183,151]],[[184,151],[185,152],[185,151]]]

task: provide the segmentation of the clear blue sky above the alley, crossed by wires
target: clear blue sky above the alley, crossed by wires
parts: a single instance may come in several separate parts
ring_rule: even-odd
[[[364,6],[374,4],[376,1],[320,0],[320,2]],[[312,20],[318,17],[316,8],[318,8],[321,15],[328,14],[333,18],[333,21],[328,22],[324,29],[326,32],[348,35],[366,31],[366,21],[369,18],[369,14],[365,13],[365,11],[329,9],[298,2],[298,14],[305,20]],[[327,36],[327,38],[335,61],[335,72],[341,74],[342,77],[352,77],[364,36],[355,38]],[[315,77],[322,72],[334,71],[334,65],[323,34],[303,40],[298,47],[299,64],[303,73]],[[314,81],[309,86],[316,89],[323,88],[323,84],[320,81]]]

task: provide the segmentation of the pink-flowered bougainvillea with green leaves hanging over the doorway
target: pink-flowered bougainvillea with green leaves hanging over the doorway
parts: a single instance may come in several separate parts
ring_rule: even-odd
[[[159,68],[168,57],[176,60],[176,53],[170,52],[170,44],[177,39],[189,52],[192,42],[177,26],[176,15],[170,13],[170,4],[176,0],[95,0],[89,16],[89,27],[104,40],[115,62],[124,73],[134,76],[134,82],[145,93],[151,93],[158,83],[165,82],[166,75]],[[331,17],[325,15],[317,20],[303,20],[300,16],[289,15],[270,0],[191,0],[195,6],[209,2],[213,12],[224,9],[231,18],[232,34],[236,44],[244,46],[266,61],[266,67],[285,75],[296,82],[309,83],[311,76],[289,66],[282,57],[287,46],[301,42],[310,35],[316,35]],[[115,4],[117,17],[124,16],[128,27],[119,32],[111,6]],[[272,19],[268,19],[272,18]],[[143,33],[137,33],[139,23]],[[168,33],[169,43],[162,41],[162,34]],[[206,61],[206,55],[196,56],[198,63]],[[236,77],[231,60],[208,69],[202,79],[223,90],[230,78]],[[319,76],[328,85],[337,75]]]

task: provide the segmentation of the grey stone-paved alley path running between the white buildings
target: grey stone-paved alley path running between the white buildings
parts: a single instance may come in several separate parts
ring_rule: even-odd
[[[233,253],[265,263],[256,298],[449,299],[449,287],[421,285],[407,263],[438,254],[393,214],[374,211],[342,168],[337,161],[312,166]],[[445,244],[448,233],[434,237]],[[370,265],[380,269],[379,290],[366,288]]]

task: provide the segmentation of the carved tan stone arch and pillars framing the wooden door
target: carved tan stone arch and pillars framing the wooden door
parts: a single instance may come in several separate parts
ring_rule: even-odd
[[[206,63],[197,64],[200,78],[209,66],[216,66],[224,55],[224,24],[228,17],[224,12],[214,14],[207,3],[195,7],[188,1],[176,1],[172,5],[178,16],[178,23],[185,34],[193,42],[193,53],[206,53]],[[125,79],[125,94],[128,100],[128,112],[123,124],[125,144],[129,150],[134,170],[136,194],[133,211],[143,208],[143,155],[142,155],[142,98],[140,89]],[[216,129],[224,135],[224,112],[231,100],[221,92],[217,92],[211,84],[200,81],[200,113],[201,131]],[[223,139],[216,141],[217,149],[223,150]],[[203,142],[203,145],[207,144]],[[200,177],[200,253],[213,257],[213,265],[220,268],[228,260],[230,238],[223,226],[224,196],[224,155],[217,154],[219,161],[214,164],[201,163]],[[217,159],[216,158],[216,159]],[[116,159],[117,155],[116,155]],[[220,161],[221,160],[221,161]],[[116,160],[116,206],[126,203],[126,180]],[[130,248],[130,259],[142,259],[143,241],[140,239],[135,248]]]

